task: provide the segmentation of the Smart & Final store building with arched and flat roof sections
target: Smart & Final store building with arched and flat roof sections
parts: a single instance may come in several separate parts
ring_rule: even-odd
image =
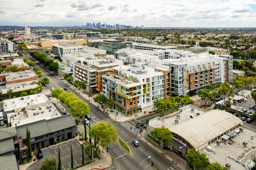
[[[255,132],[242,128],[242,120],[222,110],[206,112],[192,105],[180,109],[173,114],[150,120],[146,133],[150,135],[150,130],[155,128],[168,128],[173,133],[173,140],[171,145],[166,147],[179,156],[185,158],[186,153],[194,148],[206,154],[210,162],[217,161],[223,166],[228,162],[232,169],[244,169],[239,164],[241,158],[238,162],[236,159],[239,159],[239,154],[244,155],[242,152],[253,150],[247,146],[243,147],[243,141],[246,141],[246,145],[247,141],[250,141],[248,146],[254,146],[255,141],[249,138],[255,136]],[[251,154],[248,157],[251,158]]]

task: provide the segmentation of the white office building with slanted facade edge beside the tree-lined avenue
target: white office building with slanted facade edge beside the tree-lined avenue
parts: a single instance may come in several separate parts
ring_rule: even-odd
[[[75,43],[59,43],[52,45],[52,53],[62,59],[63,54],[82,53],[83,46]]]

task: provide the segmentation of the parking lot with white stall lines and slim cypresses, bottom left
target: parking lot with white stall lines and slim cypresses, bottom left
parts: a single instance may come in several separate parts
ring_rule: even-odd
[[[70,146],[71,145],[71,146]],[[58,150],[59,147],[59,150]],[[73,165],[74,167],[82,163],[82,147],[77,141],[77,139],[74,139],[72,141],[68,142],[62,142],[60,145],[52,145],[49,148],[43,149],[43,156],[55,156],[58,164],[58,157],[59,157],[59,151],[61,156],[61,170],[65,170],[71,167],[71,147],[73,152]],[[27,170],[32,169],[40,169],[41,166],[41,160],[37,160],[37,162],[33,163],[28,167]],[[88,161],[88,157],[86,154],[84,154],[84,162]]]

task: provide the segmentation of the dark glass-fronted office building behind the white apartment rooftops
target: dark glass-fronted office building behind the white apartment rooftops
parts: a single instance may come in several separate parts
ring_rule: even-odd
[[[122,41],[110,41],[103,40],[103,42],[99,41],[99,49],[104,49],[107,51],[107,54],[113,54],[115,51],[126,48],[126,43]]]

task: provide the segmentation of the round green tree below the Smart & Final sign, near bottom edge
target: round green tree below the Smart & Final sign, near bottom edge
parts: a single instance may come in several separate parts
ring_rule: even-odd
[[[197,170],[205,170],[210,165],[209,158],[206,154],[196,151],[194,148],[190,149],[186,154],[188,165]]]

